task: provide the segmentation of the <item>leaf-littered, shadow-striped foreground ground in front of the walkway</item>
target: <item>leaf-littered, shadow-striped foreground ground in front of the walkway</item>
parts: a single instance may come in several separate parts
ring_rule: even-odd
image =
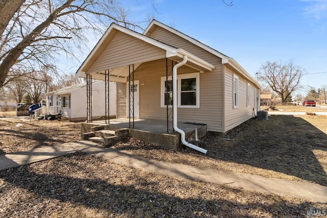
[[[0,202],[6,209],[3,215],[14,215],[14,208],[17,207],[19,214],[30,214],[27,211],[36,208],[38,214],[34,215],[42,215],[45,210],[49,210],[49,199],[68,203],[68,206],[60,204],[66,210],[63,211],[66,216],[76,216],[77,214],[69,214],[69,211],[74,211],[73,208],[77,206],[97,209],[103,216],[110,217],[251,217],[251,214],[303,216],[312,206],[308,202],[287,202],[279,196],[260,193],[253,193],[256,196],[253,202],[247,199],[251,195],[245,190],[219,185],[203,189],[202,183],[176,181],[164,176],[153,179],[152,174],[131,168],[125,168],[128,171],[128,176],[125,177],[122,169],[115,170],[118,166],[109,161],[98,162],[99,159],[81,153],[77,157],[72,156],[0,172],[0,178],[6,182],[0,186],[0,199],[1,196],[9,195],[9,190],[16,192],[10,196],[13,201],[5,203],[7,199]],[[17,191],[20,192],[19,195]],[[36,196],[26,198],[25,191],[35,193]],[[269,203],[265,201],[267,197]]]

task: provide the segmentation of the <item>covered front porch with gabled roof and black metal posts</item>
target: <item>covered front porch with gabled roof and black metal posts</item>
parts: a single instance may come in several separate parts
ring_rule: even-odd
[[[192,103],[187,100],[177,103],[177,98],[180,99],[180,95],[177,95],[178,68],[180,68],[178,74],[183,74],[183,78],[178,79],[179,83],[184,80],[190,87],[190,90],[185,90],[185,99],[192,95]],[[213,64],[183,49],[112,23],[77,72],[78,76],[86,78],[87,82],[87,123],[95,123],[92,119],[92,107],[95,103],[92,103],[91,81],[103,80],[106,84],[116,82],[118,83],[116,117],[127,118],[126,122],[119,124],[121,127],[129,128],[130,134],[133,130],[139,132],[141,129],[138,128],[148,128],[156,134],[178,135],[174,132],[177,131],[181,135],[179,141],[181,140],[183,144],[190,144],[185,141],[182,126],[183,123],[195,122],[187,117],[196,117],[192,114],[197,113],[199,108],[199,74],[212,71],[214,68]],[[186,74],[188,76],[185,77]],[[181,85],[178,86],[181,87]],[[106,85],[105,101],[106,108],[109,108],[107,87]],[[189,93],[186,93],[188,91]],[[178,92],[181,93],[181,91]],[[177,117],[178,107],[187,114],[183,122],[178,122],[180,121]],[[146,122],[140,122],[139,118],[158,119],[159,122],[147,122],[143,125]],[[114,127],[112,122],[114,120],[108,118],[104,120],[104,125],[111,125],[110,128],[112,128]],[[160,131],[155,131],[157,123],[160,123]],[[179,125],[182,126],[179,127]],[[194,128],[194,133],[195,129],[197,128]]]

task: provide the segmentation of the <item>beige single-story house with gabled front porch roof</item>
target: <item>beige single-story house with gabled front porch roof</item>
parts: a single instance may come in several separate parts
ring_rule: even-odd
[[[260,107],[260,84],[235,60],[156,20],[143,34],[112,23],[77,74],[116,82],[118,118],[225,133]]]

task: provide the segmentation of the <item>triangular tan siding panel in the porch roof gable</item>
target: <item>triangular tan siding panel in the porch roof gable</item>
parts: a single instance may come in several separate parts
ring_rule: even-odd
[[[118,32],[87,73],[99,72],[166,57],[166,51],[122,32]]]

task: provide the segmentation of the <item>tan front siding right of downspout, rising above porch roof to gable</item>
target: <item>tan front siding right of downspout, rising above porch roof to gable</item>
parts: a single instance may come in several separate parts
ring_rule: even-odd
[[[167,43],[196,55],[215,65],[212,72],[200,74],[200,109],[178,108],[179,122],[189,121],[205,123],[208,131],[222,132],[222,64],[221,59],[206,52],[197,45],[163,29],[156,27],[151,38]]]

